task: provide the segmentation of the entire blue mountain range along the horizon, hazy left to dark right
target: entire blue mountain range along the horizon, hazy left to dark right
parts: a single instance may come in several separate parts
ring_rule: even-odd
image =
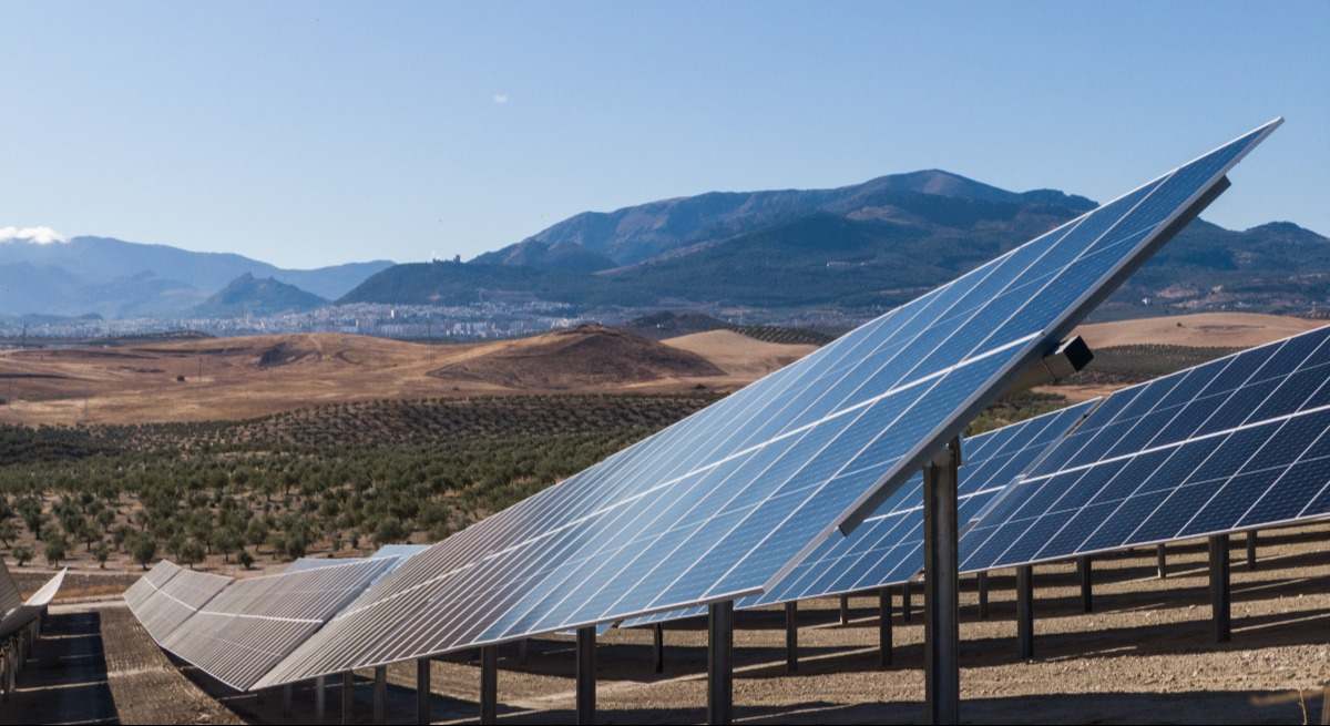
[[[235,254],[102,237],[0,241],[0,314],[229,316],[325,301],[548,301],[584,308],[835,307],[867,315],[1095,206],[1059,190],[1008,191],[924,170],[835,189],[712,191],[585,211],[467,262],[282,270]],[[1330,239],[1291,222],[1228,230],[1198,219],[1096,316],[1307,314],[1327,299]]]

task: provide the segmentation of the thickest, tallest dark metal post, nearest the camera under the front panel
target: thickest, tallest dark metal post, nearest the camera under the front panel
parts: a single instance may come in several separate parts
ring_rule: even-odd
[[[956,437],[923,469],[924,699],[930,723],[960,719],[959,467]]]

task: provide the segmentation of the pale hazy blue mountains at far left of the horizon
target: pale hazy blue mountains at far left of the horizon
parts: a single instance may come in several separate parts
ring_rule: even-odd
[[[283,270],[231,253],[196,253],[109,237],[0,241],[0,312],[106,318],[180,315],[250,274],[338,298],[391,261]]]

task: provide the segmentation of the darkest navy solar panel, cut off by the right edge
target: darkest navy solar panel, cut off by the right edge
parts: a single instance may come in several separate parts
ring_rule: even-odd
[[[1330,328],[1115,392],[962,537],[982,570],[1330,515]]]

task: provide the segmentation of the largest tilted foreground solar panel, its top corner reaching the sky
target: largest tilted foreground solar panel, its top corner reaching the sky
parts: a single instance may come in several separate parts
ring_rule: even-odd
[[[1278,122],[439,543],[261,685],[759,592],[903,484]]]

